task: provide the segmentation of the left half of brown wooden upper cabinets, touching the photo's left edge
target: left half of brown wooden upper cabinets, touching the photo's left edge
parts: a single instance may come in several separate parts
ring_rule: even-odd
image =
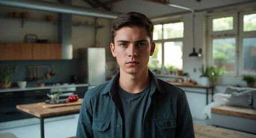
[[[32,59],[32,44],[0,43],[0,60]]]

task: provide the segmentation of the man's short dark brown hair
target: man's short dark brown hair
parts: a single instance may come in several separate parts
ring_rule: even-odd
[[[144,14],[137,12],[124,13],[118,16],[113,24],[111,29],[112,34],[112,43],[114,43],[114,37],[116,36],[116,31],[124,26],[133,27],[143,27],[147,30],[147,36],[150,37],[150,42],[153,41],[153,31],[154,26],[149,18]]]

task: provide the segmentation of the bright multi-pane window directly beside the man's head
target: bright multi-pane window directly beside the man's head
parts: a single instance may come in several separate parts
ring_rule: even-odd
[[[182,70],[183,32],[184,24],[180,21],[154,25],[155,52],[149,61],[151,70],[168,66]]]

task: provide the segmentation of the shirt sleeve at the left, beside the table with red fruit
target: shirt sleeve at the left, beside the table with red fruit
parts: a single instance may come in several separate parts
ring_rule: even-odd
[[[94,137],[92,131],[92,110],[88,106],[88,101],[85,97],[79,113],[76,137]]]

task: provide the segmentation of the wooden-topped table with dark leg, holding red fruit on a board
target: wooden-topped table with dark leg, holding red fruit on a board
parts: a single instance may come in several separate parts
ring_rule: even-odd
[[[51,118],[51,117],[60,117],[66,116],[70,114],[77,114],[81,108],[81,102],[83,99],[79,99],[79,101],[64,104],[56,104],[58,107],[50,107],[50,108],[43,108],[44,102],[35,103],[35,104],[24,104],[24,105],[16,105],[16,108],[19,112],[29,114],[30,116],[37,117],[40,119],[40,133],[41,138],[44,137],[44,119]]]

